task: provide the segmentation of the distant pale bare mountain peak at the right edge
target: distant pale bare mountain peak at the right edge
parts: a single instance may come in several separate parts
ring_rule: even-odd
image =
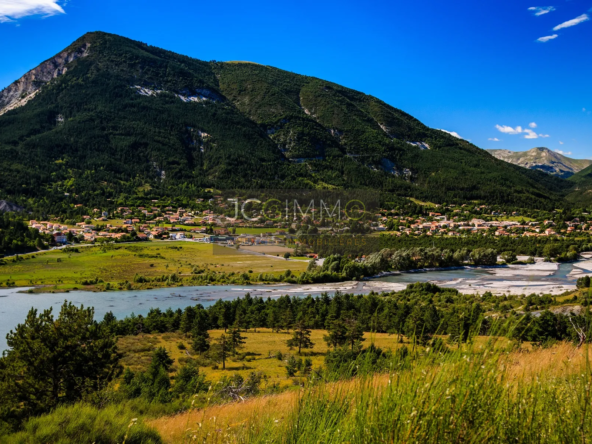
[[[543,171],[567,179],[578,171],[592,165],[592,160],[570,159],[549,148],[533,148],[517,152],[509,150],[487,150],[493,156],[506,162],[531,170]]]

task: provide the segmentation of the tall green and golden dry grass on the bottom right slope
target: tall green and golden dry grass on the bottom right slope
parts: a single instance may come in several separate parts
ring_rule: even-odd
[[[427,354],[404,370],[150,423],[166,442],[587,443],[587,348]]]

